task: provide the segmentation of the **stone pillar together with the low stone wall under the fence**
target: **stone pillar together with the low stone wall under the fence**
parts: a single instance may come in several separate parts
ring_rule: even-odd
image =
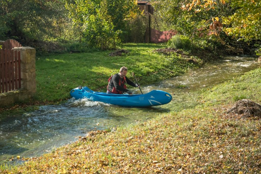
[[[31,47],[15,47],[13,50],[21,52],[21,89],[1,93],[0,107],[10,106],[16,102],[32,98],[36,92],[35,49]]]

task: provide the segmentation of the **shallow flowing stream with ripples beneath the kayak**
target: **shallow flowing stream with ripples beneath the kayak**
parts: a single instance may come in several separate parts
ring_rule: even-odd
[[[222,83],[258,67],[260,64],[254,62],[253,57],[226,57],[193,72],[142,86],[143,93],[152,89],[170,93],[172,101],[162,106],[127,108],[87,99],[69,99],[61,105],[40,106],[33,112],[10,115],[0,119],[0,163],[12,156],[35,157],[50,152],[93,129],[143,122],[170,110],[193,107],[198,104],[196,92],[200,88]],[[138,94],[139,89],[134,93]]]

